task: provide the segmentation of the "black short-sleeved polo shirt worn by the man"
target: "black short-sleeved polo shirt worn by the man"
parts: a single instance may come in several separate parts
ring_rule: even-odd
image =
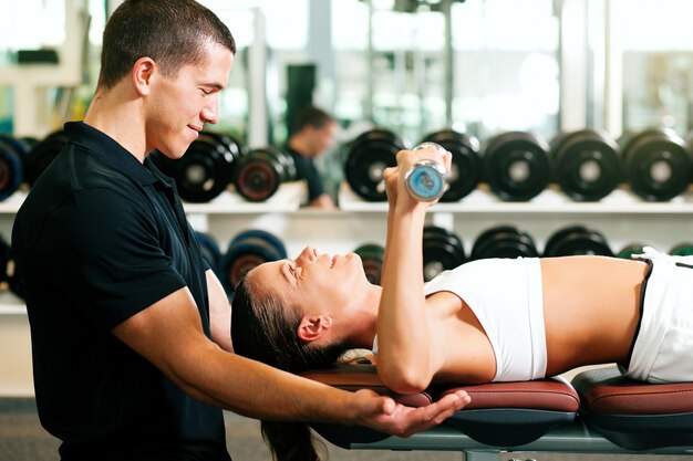
[[[65,130],[12,231],[41,423],[65,461],[229,460],[221,410],[110,332],[187,286],[209,336],[207,266],[175,186],[105,134]]]

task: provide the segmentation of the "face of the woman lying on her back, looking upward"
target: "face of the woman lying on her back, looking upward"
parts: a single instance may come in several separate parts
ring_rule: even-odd
[[[346,306],[355,293],[370,285],[358,254],[331,256],[319,254],[312,247],[307,247],[296,260],[261,264],[251,276],[280,295],[287,305],[301,306],[303,315]]]

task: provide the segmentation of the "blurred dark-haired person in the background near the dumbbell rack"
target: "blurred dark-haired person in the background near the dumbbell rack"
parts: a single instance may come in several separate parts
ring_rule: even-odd
[[[285,149],[296,163],[297,179],[308,185],[307,207],[335,209],[332,196],[327,192],[316,159],[334,146],[339,125],[334,117],[319,107],[308,106],[299,111]]]

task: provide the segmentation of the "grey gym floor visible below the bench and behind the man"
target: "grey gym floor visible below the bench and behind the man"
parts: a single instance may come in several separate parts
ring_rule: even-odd
[[[269,461],[269,451],[260,437],[259,422],[226,412],[227,444],[234,461]],[[0,461],[58,461],[59,442],[39,422],[33,399],[0,399]],[[365,451],[328,447],[328,461],[463,461],[457,452]],[[503,453],[498,460],[536,461],[627,461],[628,454]],[[641,455],[638,461],[691,461],[684,455]]]

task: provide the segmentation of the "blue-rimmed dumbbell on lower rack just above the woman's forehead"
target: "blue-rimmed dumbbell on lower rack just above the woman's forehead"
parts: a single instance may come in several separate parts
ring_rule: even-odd
[[[287,250],[273,233],[260,229],[242,231],[231,239],[221,256],[219,264],[221,284],[228,294],[232,294],[248,271],[262,263],[285,258]]]

